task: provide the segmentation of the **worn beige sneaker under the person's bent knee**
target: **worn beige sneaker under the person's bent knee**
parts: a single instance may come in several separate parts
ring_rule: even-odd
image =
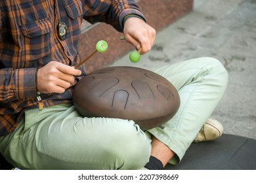
[[[212,118],[208,120],[203,125],[202,129],[196,135],[194,142],[212,141],[221,137],[223,134],[223,125]]]

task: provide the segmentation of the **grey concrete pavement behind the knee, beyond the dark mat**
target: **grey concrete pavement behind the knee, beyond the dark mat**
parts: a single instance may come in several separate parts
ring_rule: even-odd
[[[112,65],[144,69],[210,56],[223,63],[229,84],[212,114],[224,133],[256,139],[256,1],[195,0],[194,10],[158,32],[139,63],[129,54]]]

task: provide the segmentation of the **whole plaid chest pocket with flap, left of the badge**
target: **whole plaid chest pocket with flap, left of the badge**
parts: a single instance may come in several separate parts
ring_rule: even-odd
[[[48,18],[20,25],[24,35],[24,53],[26,61],[44,58],[51,53],[51,22]]]

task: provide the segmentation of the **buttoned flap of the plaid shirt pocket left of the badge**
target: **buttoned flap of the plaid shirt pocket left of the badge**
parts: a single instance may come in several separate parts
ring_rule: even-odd
[[[48,18],[20,25],[23,35],[29,38],[45,35],[51,31],[51,27],[51,22]]]

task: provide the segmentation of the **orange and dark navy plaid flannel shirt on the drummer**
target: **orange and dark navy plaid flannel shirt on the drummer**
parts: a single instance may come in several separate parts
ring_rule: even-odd
[[[144,18],[131,0],[0,1],[0,136],[15,129],[24,110],[38,107],[36,69],[52,60],[79,63],[83,18],[122,31],[127,14]],[[60,22],[66,25],[64,39],[58,31]],[[41,94],[41,99],[44,107],[72,103],[72,88],[61,94]]]

